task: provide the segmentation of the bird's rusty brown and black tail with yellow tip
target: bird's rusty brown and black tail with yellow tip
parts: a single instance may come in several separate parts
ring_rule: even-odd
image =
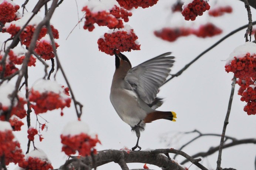
[[[151,123],[154,120],[157,119],[167,119],[171,120],[173,122],[176,122],[176,113],[175,112],[162,112],[162,111],[155,111],[148,113],[146,118],[143,120],[145,123]]]

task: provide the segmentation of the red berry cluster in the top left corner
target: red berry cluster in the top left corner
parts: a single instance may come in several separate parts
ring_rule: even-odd
[[[20,6],[14,5],[11,0],[2,1],[0,4],[0,22],[5,24],[14,21],[17,17],[15,13],[19,8]]]

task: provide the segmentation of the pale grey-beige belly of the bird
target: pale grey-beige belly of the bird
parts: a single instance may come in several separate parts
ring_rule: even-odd
[[[119,117],[132,127],[147,115],[145,109],[139,104],[138,96],[132,91],[124,89],[112,91],[110,101]]]

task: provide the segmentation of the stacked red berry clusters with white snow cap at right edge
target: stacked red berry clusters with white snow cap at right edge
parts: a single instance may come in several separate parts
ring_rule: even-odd
[[[238,94],[241,95],[241,101],[247,102],[244,111],[247,115],[256,114],[256,44],[246,42],[240,45],[230,54],[226,72],[233,72],[235,77],[239,78],[237,83],[240,85]]]

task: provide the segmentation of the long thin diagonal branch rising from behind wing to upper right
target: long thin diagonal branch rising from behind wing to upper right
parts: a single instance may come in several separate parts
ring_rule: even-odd
[[[252,25],[255,25],[256,21],[252,22]],[[248,25],[242,26],[240,28],[237,28],[236,30],[230,32],[229,34],[225,35],[223,38],[221,38],[219,41],[217,41],[215,44],[213,44],[212,46],[210,46],[209,48],[207,48],[205,51],[203,51],[201,54],[199,54],[196,58],[194,58],[191,62],[189,62],[188,64],[186,64],[180,71],[178,71],[176,74],[171,75],[171,77],[169,79],[167,79],[164,83],[166,84],[168,81],[170,81],[171,79],[173,79],[174,77],[178,77],[179,75],[181,75],[183,73],[183,71],[185,71],[189,66],[191,66],[195,61],[197,61],[200,57],[202,57],[204,54],[206,54],[208,51],[212,50],[212,48],[216,47],[218,44],[220,44],[222,41],[226,40],[228,37],[230,37],[231,35],[237,33],[240,30],[243,30],[244,28],[247,28]]]

